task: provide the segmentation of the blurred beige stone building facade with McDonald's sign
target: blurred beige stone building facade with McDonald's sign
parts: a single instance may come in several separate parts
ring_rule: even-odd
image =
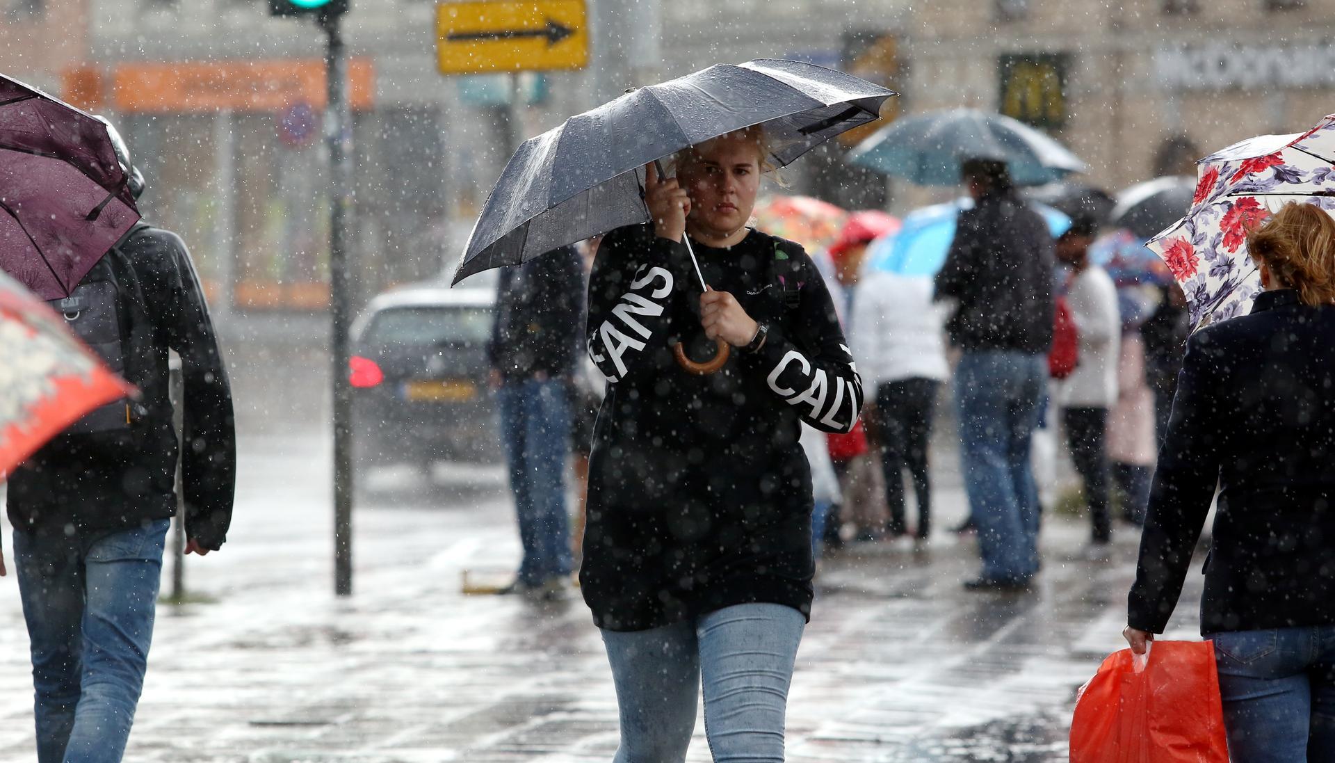
[[[904,32],[914,108],[1017,116],[1113,190],[1335,111],[1326,0],[934,0]]]

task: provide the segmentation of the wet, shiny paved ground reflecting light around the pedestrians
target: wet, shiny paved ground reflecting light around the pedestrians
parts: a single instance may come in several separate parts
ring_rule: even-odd
[[[328,453],[315,436],[242,441],[228,544],[191,557],[206,603],[162,605],[127,760],[607,762],[615,699],[574,592],[469,596],[519,556],[495,466],[429,482],[380,474],[355,518],[355,595],[332,595]],[[948,469],[939,528],[964,514]],[[1077,687],[1120,648],[1133,533],[1083,559],[1087,528],[1051,517],[1027,593],[973,593],[972,540],[925,552],[854,544],[822,563],[789,699],[788,759],[1067,760]],[[9,547],[8,532],[5,533]],[[1195,637],[1199,576],[1169,636]],[[0,581],[0,760],[31,760],[27,635]],[[708,762],[704,723],[689,760]]]

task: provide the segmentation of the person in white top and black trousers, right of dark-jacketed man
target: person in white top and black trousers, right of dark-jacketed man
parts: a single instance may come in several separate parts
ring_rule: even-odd
[[[1103,267],[1089,262],[1089,245],[1099,233],[1092,216],[1077,215],[1057,239],[1057,261],[1071,269],[1065,298],[1079,337],[1076,370],[1057,386],[1061,425],[1071,461],[1084,482],[1092,520],[1092,549],[1112,541],[1108,514],[1108,409],[1117,402],[1117,354],[1121,317],[1117,289]]]

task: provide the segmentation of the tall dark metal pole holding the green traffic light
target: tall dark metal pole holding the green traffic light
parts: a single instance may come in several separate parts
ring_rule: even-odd
[[[330,341],[334,345],[334,593],[352,593],[352,389],[348,358],[347,224],[352,212],[352,118],[347,96],[347,53],[340,16],[320,16],[328,35],[324,57],[328,104],[324,132],[330,150]]]

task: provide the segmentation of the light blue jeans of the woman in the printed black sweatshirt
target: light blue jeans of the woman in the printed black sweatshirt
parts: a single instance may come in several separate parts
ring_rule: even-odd
[[[603,631],[621,712],[614,763],[681,763],[701,677],[716,763],[784,760],[784,720],[802,613],[738,604],[650,631]]]

